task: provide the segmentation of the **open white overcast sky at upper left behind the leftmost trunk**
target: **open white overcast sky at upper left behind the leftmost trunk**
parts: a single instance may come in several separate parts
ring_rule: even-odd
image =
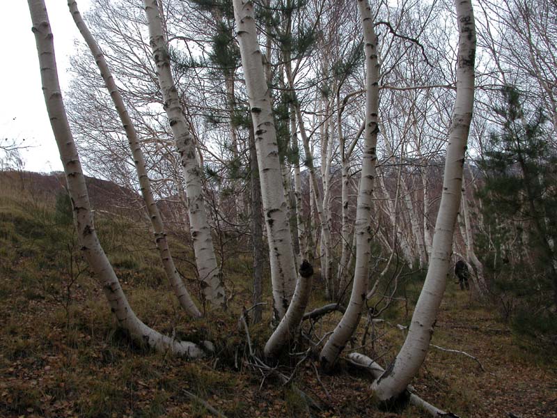
[[[77,30],[66,0],[45,0],[49,14],[58,63],[58,77],[64,90],[70,77],[67,69],[74,48]],[[78,0],[81,13],[90,0]],[[8,10],[0,13],[2,64],[0,80],[0,138],[25,139],[32,146],[22,151],[24,169],[29,171],[61,170],[56,142],[42,98],[35,38],[31,32],[31,17],[24,0],[6,2]]]

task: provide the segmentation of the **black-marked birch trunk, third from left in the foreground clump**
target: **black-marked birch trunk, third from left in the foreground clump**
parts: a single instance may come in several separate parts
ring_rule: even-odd
[[[143,3],[145,4],[145,13],[149,25],[149,43],[152,49],[152,57],[157,67],[157,78],[164,98],[164,110],[182,160],[186,180],[191,238],[194,241],[194,253],[203,288],[203,296],[207,302],[218,307],[226,307],[222,277],[217,265],[217,257],[214,255],[211,229],[207,221],[207,210],[205,199],[203,199],[201,172],[196,160],[194,137],[189,132],[172,77],[168,46],[162,29],[157,0],[144,0]]]

